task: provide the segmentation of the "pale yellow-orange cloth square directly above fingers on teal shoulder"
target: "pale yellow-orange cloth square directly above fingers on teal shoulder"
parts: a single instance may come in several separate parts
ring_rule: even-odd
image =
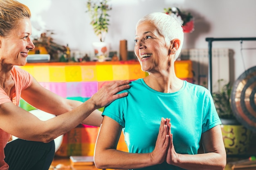
[[[113,80],[126,80],[129,79],[129,67],[128,64],[112,65]]]

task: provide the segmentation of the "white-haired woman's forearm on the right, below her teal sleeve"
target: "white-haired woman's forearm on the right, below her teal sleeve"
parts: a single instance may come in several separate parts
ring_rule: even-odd
[[[177,161],[173,165],[186,170],[223,170],[226,157],[215,152],[197,155],[178,154]]]

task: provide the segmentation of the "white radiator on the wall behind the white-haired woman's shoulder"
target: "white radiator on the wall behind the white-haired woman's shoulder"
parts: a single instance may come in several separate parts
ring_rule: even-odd
[[[230,49],[212,49],[212,91],[218,91],[218,80],[229,82]],[[181,60],[191,60],[194,72],[194,82],[208,88],[208,49],[182,49]]]

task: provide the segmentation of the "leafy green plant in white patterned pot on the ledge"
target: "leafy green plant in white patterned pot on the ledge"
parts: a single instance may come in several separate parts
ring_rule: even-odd
[[[100,42],[92,43],[94,54],[98,61],[105,61],[108,58],[109,46],[105,43],[106,33],[108,33],[109,17],[108,11],[112,8],[108,5],[108,0],[88,0],[87,11],[89,13],[95,35]]]

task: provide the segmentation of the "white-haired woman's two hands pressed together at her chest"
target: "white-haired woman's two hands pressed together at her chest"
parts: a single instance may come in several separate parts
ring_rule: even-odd
[[[152,161],[156,164],[166,161],[173,164],[177,161],[178,154],[173,146],[173,134],[171,134],[171,119],[161,119],[159,133],[155,144],[155,149],[150,153]]]

